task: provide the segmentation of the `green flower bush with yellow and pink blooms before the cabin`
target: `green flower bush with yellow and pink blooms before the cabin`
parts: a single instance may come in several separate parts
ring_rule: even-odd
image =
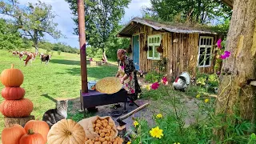
[[[218,50],[222,50],[221,42],[218,40]],[[224,56],[221,56],[222,54]],[[220,52],[219,55],[219,60],[226,59],[230,57],[230,52]],[[256,141],[255,134],[251,134],[254,126],[240,118],[237,113],[215,114],[215,98],[194,94],[196,98],[194,104],[197,108],[193,111],[184,102],[181,102],[177,91],[171,90],[166,77],[163,77],[160,82],[147,85],[146,89],[149,90],[146,91],[148,94],[153,94],[154,98],[159,97],[158,99],[162,100],[159,106],[153,106],[154,110],[159,112],[152,114],[153,124],[149,124],[145,118],[134,118],[134,134],[129,143],[197,144],[211,142],[255,143]],[[162,108],[161,104],[168,108]],[[227,122],[222,122],[222,118],[226,118]],[[187,120],[193,122],[187,124]],[[233,121],[237,122],[236,125],[233,124]],[[224,141],[220,141],[214,130],[221,130],[223,126],[226,127],[226,134],[223,134]]]

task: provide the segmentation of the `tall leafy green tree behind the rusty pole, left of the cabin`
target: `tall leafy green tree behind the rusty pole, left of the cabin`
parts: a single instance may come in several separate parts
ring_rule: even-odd
[[[78,26],[77,0],[66,0],[74,14],[74,22]],[[101,49],[106,58],[106,42],[115,31],[118,22],[125,13],[124,8],[130,0],[85,0],[86,42],[92,47]],[[78,28],[74,29],[78,34]]]

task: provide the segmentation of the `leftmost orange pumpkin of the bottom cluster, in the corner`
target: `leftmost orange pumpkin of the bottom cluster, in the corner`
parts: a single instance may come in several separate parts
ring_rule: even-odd
[[[18,125],[6,127],[2,130],[2,144],[14,144],[18,143],[22,135],[26,134],[25,129]]]

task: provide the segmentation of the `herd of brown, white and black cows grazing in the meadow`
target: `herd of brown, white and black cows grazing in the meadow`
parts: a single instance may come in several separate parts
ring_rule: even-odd
[[[18,55],[18,58],[20,60],[23,59],[23,57],[26,57],[26,59],[23,59],[24,61],[24,66],[27,65],[28,62],[32,62],[35,60],[35,58],[37,57],[38,53],[33,53],[33,52],[28,52],[28,51],[12,51],[13,56]],[[45,64],[48,64],[48,62],[50,61],[51,55],[49,54],[39,54],[40,59],[41,59],[41,63],[45,62]]]

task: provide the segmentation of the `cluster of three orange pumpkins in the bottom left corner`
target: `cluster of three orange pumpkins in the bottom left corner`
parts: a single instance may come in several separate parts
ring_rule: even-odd
[[[44,121],[30,120],[24,128],[18,124],[2,130],[2,144],[45,144],[50,127]]]

